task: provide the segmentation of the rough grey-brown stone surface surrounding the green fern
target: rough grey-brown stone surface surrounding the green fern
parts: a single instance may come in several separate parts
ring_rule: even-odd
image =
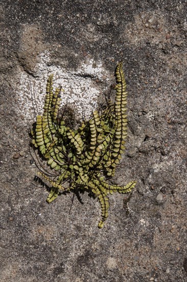
[[[185,0],[1,1],[1,281],[186,281],[186,7]],[[45,202],[30,163],[32,87],[25,100],[20,93],[30,79],[43,97],[38,83],[58,68],[67,86],[69,73],[80,85],[89,79],[101,103],[121,59],[129,137],[112,181],[137,186],[129,198],[110,196],[99,230],[100,206],[87,193],[70,213],[72,194]]]

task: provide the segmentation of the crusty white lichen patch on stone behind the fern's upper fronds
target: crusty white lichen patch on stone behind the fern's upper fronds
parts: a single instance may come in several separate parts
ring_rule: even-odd
[[[101,93],[96,79],[103,81],[106,70],[101,63],[89,59],[78,70],[72,71],[61,66],[50,64],[48,52],[40,54],[40,63],[35,67],[35,76],[26,72],[20,76],[20,89],[17,91],[19,110],[25,120],[35,119],[36,114],[42,113],[46,80],[54,74],[54,89],[62,87],[61,105],[75,110],[76,118],[82,119],[83,114],[89,118],[97,108],[98,96]],[[105,78],[106,79],[106,78]]]

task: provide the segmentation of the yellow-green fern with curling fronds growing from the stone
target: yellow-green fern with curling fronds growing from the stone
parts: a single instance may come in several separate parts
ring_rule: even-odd
[[[61,89],[53,91],[53,75],[46,85],[43,115],[38,115],[33,125],[32,144],[51,169],[54,177],[40,171],[52,188],[47,202],[51,203],[59,190],[83,189],[91,191],[101,204],[102,218],[98,224],[102,228],[108,216],[108,195],[114,192],[128,193],[136,182],[125,186],[111,185],[106,179],[114,176],[116,165],[120,163],[127,137],[127,92],[122,62],[115,70],[116,94],[114,103],[101,114],[93,111],[92,117],[77,130],[65,125],[59,117]],[[64,184],[68,182],[68,188]]]

